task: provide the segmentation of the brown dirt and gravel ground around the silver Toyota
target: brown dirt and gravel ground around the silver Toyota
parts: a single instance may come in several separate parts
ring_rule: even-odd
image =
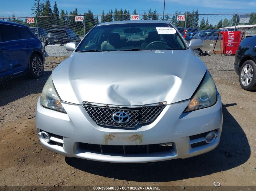
[[[48,58],[59,62],[64,58]],[[35,106],[53,68],[38,80],[26,76],[0,84],[1,185],[224,185],[256,186],[256,94],[241,89],[234,56],[201,56],[223,103],[221,142],[188,159],[111,164],[66,158],[40,145]],[[239,190],[239,189],[238,189]]]

